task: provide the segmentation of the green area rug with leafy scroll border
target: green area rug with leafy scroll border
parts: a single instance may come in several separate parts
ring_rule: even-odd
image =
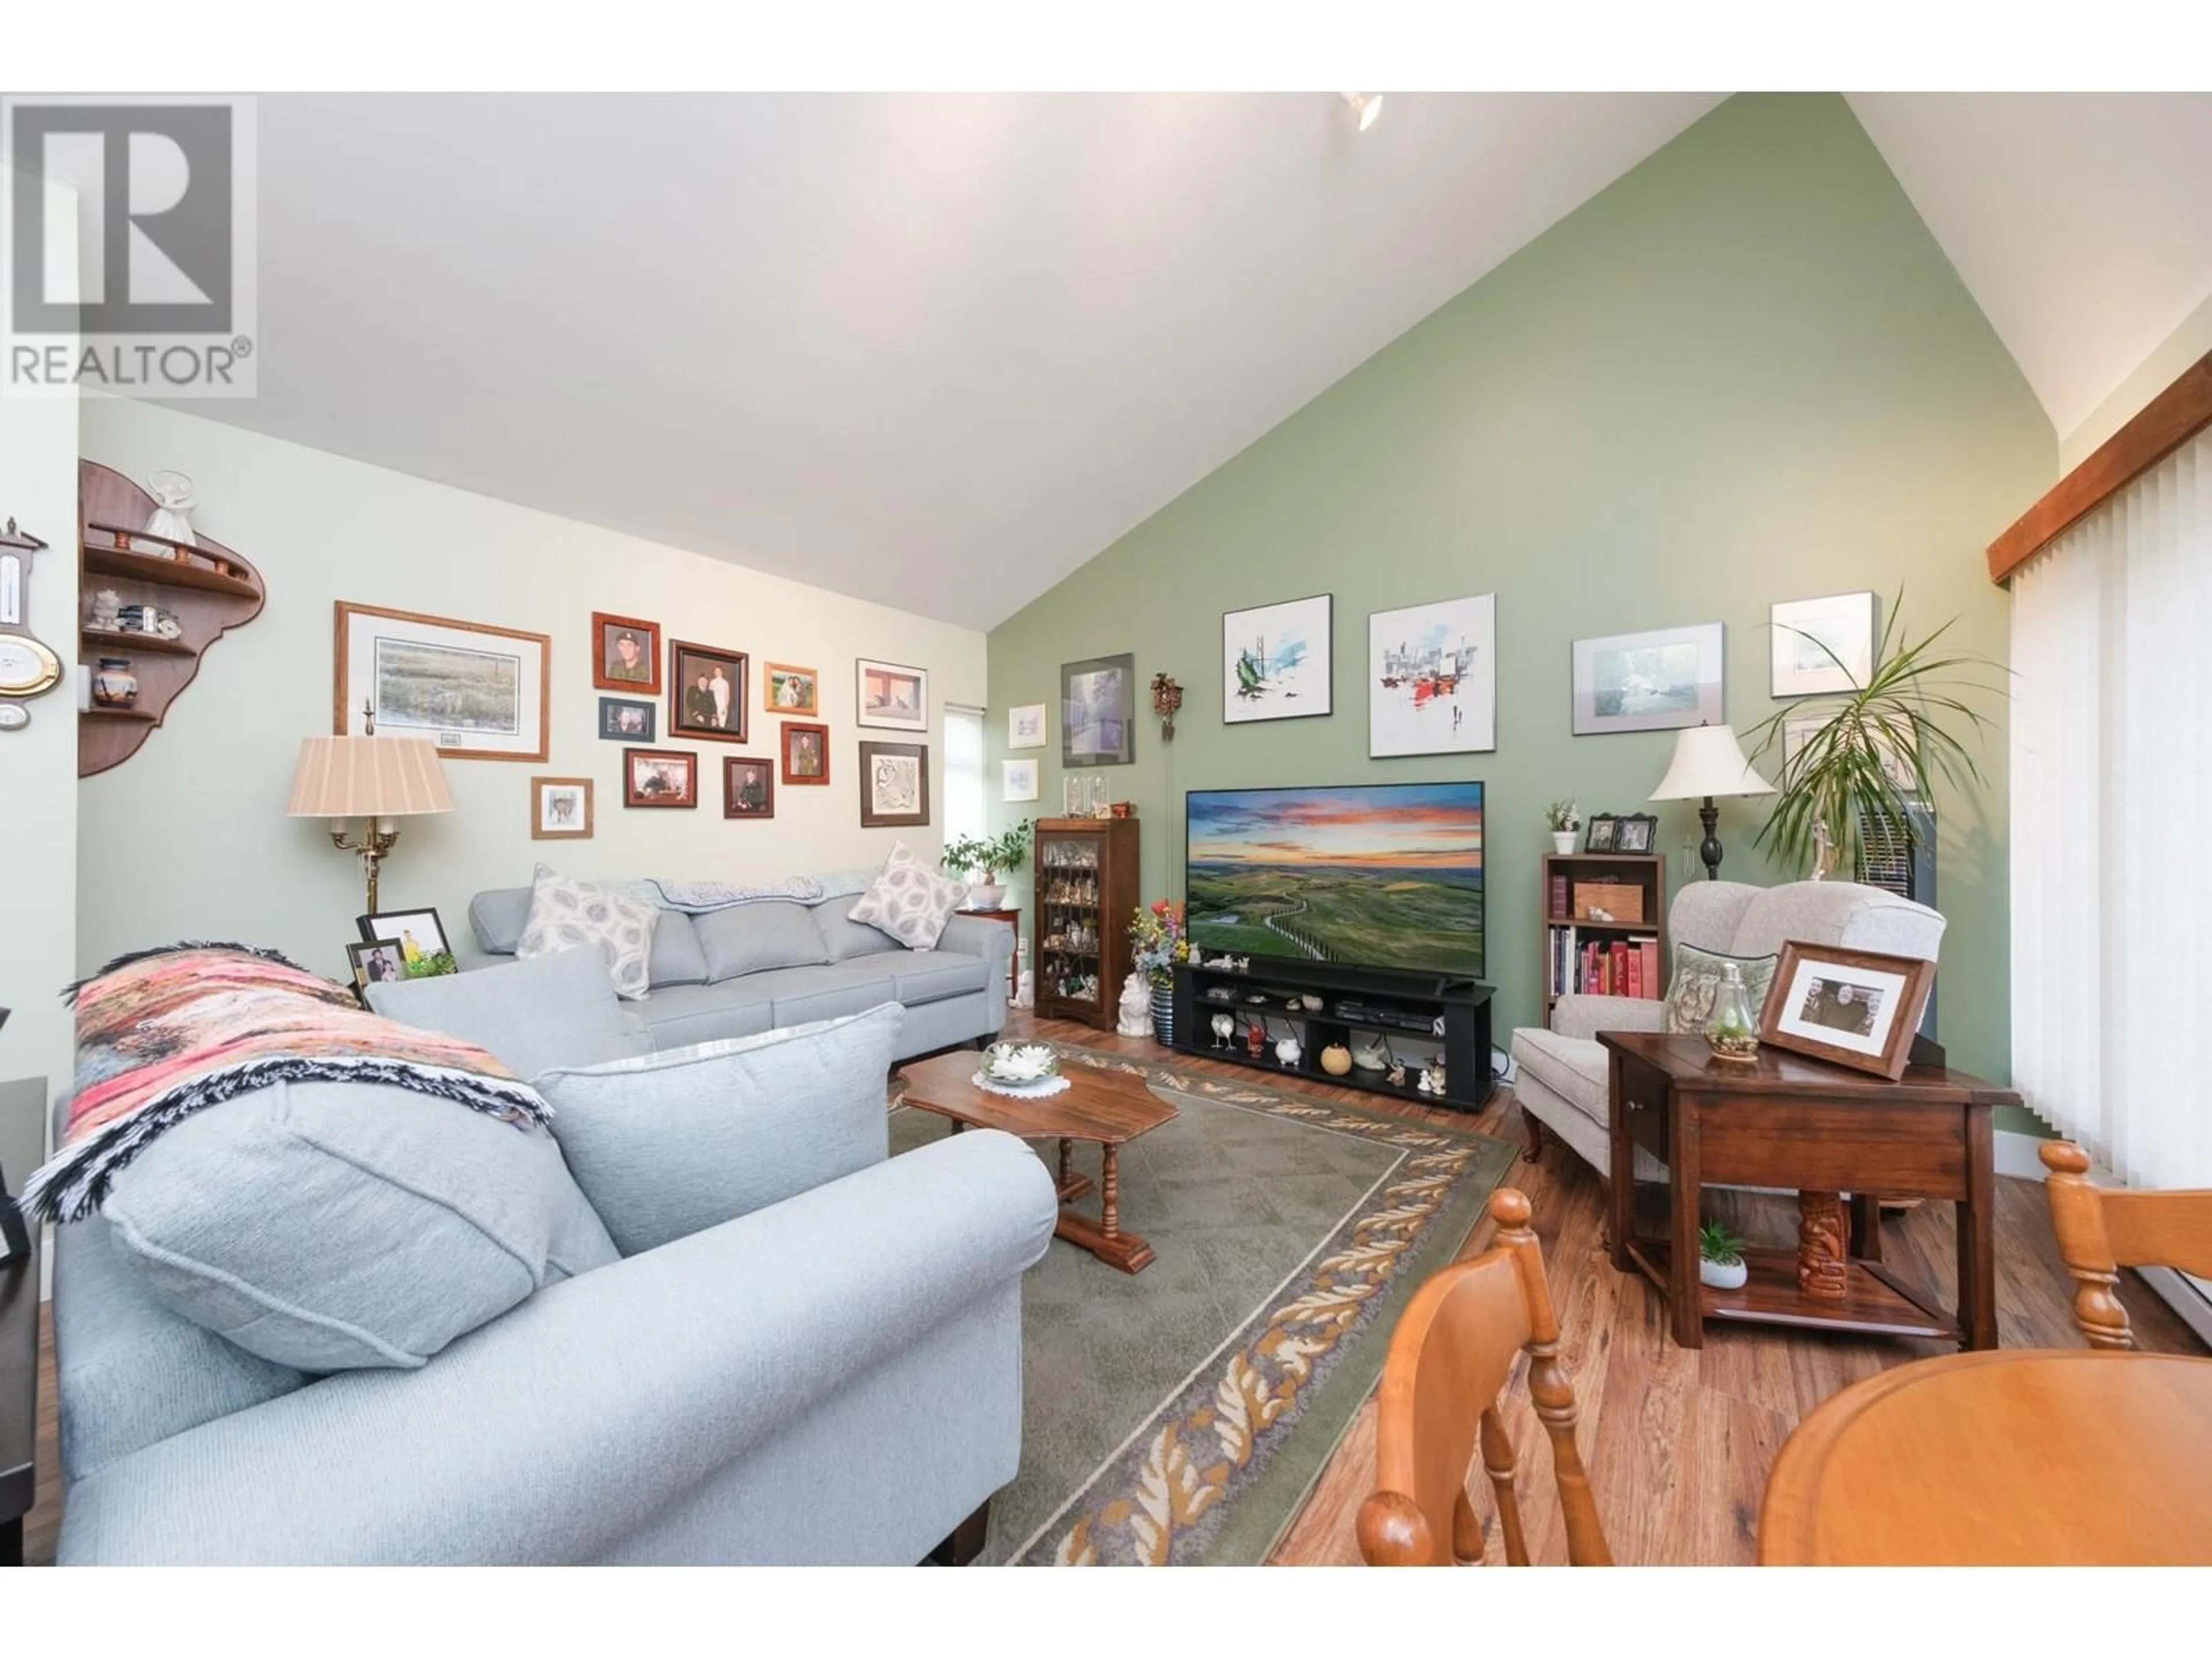
[[[987,1562],[1256,1564],[1383,1371],[1515,1148],[1261,1082],[1055,1044],[1179,1108],[1121,1152],[1121,1274],[1060,1239],[1022,1285],[1022,1473]],[[891,1150],[947,1135],[891,1113]],[[1040,1144],[1053,1155],[1053,1144]],[[1077,1148],[1097,1177],[1097,1148]],[[1095,1206],[1095,1197],[1084,1199]]]

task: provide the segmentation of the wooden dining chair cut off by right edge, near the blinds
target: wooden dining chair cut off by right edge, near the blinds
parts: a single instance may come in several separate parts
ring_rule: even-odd
[[[2035,1155],[2051,1170],[2044,1199],[2075,1281],[2075,1325],[2090,1347],[2135,1347],[2128,1310],[2119,1305],[2119,1270],[2179,1267],[2212,1279],[2212,1188],[2099,1188],[2088,1183],[2088,1152],[2073,1141],[2044,1141]]]

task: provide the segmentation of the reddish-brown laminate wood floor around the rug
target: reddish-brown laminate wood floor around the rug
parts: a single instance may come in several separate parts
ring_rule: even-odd
[[[1044,1035],[1088,1048],[1170,1060],[1148,1037],[1117,1037],[1066,1020],[1015,1013],[1006,1035]],[[1252,1075],[1245,1066],[1172,1055],[1177,1066],[1225,1077]],[[1524,1137],[1511,1091],[1469,1119],[1396,1106],[1378,1095],[1323,1088],[1305,1079],[1283,1086],[1340,1097],[1407,1117],[1433,1117],[1502,1135]],[[1759,1537],[1759,1498],[1767,1464],[1812,1407],[1838,1389],[1889,1365],[1953,1352],[1947,1343],[1874,1340],[1825,1332],[1708,1327],[1703,1349],[1681,1349],[1666,1334],[1666,1305],[1641,1274],[1619,1274],[1604,1248],[1606,1188],[1597,1172],[1559,1141],[1542,1164],[1522,1157],[1506,1177],[1535,1206],[1544,1243],[1544,1272],[1559,1310],[1559,1345],[1582,1407],[1582,1458],[1597,1491],[1597,1511],[1617,1562],[1637,1566],[1750,1564]],[[1794,1243],[1796,1206],[1736,1192],[1708,1192],[1708,1203],[1752,1243]],[[1464,1254],[1489,1248],[1484,1221]],[[1922,1203],[1882,1225],[1885,1259],[1931,1285],[1944,1301],[1955,1290],[1951,1263],[1951,1206]],[[2135,1274],[2121,1274],[2121,1301],[2141,1347],[2201,1354],[2203,1345]],[[2075,1332],[2070,1281],[2051,1237],[2044,1194],[2035,1181],[1997,1177],[1997,1334],[2004,1347],[2081,1347]],[[62,1524],[60,1460],[55,1455],[53,1325],[40,1336],[40,1451],[38,1506],[24,1526],[24,1559],[51,1562]],[[1566,1562],[1566,1531],[1551,1489],[1551,1455],[1522,1367],[1506,1387],[1506,1422],[1522,1467],[1522,1513],[1537,1562]],[[1279,1566],[1356,1564],[1354,1517],[1374,1482],[1374,1400],[1354,1420],[1314,1495],[1274,1553]],[[1484,1480],[1469,1486],[1475,1513],[1491,1517]],[[1489,1559],[1502,1562],[1498,1526],[1489,1520]]]

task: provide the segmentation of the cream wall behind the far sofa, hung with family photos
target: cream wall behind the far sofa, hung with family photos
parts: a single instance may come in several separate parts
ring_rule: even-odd
[[[447,761],[458,810],[407,821],[385,863],[385,907],[436,905],[465,960],[469,896],[529,883],[538,858],[577,876],[737,876],[869,865],[900,836],[918,849],[940,845],[936,825],[860,827],[858,741],[902,739],[854,726],[854,659],[929,670],[940,803],[945,703],[984,701],[980,633],[137,403],[88,400],[82,449],[139,482],[157,467],[188,473],[199,487],[195,522],[268,582],[268,608],[206,655],[161,730],[82,785],[86,969],[146,945],[221,938],[345,971],[358,865],[330,847],[323,823],[283,814],[299,739],[330,730],[336,599],[553,637],[549,759]],[[750,743],[668,741],[661,699],[659,748],[701,754],[695,812],[622,805],[622,745],[597,737],[606,692],[591,684],[593,611],[752,655]],[[768,659],[821,668],[832,783],[779,785],[772,821],[730,823],[723,754],[776,752],[776,719],[759,710]],[[531,841],[533,774],[595,781],[591,841]]]

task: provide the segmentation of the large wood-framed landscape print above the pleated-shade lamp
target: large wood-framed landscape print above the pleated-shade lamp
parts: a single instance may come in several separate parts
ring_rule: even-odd
[[[551,650],[542,633],[338,599],[330,730],[427,737],[449,761],[544,761]]]

